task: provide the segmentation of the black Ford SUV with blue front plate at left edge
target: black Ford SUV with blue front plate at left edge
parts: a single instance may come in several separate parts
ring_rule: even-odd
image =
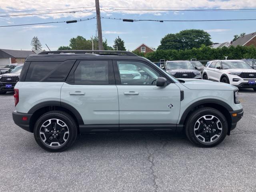
[[[0,94],[6,94],[8,91],[14,91],[14,86],[18,82],[23,64],[16,64],[6,71],[6,74],[0,75]]]

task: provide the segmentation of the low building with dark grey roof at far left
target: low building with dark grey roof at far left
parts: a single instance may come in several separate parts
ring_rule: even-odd
[[[29,55],[36,54],[34,51],[0,49],[0,66],[10,63],[24,63]]]

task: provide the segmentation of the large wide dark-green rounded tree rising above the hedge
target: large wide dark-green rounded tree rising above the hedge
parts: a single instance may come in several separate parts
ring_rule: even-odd
[[[211,36],[204,30],[190,29],[182,30],[176,34],[167,34],[162,38],[158,50],[186,50],[200,48],[203,44],[209,46],[212,44]]]

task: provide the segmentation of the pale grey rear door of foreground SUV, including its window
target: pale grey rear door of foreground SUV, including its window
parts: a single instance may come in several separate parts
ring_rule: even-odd
[[[60,101],[76,108],[84,121],[84,131],[118,130],[118,92],[112,61],[77,61],[62,86]]]

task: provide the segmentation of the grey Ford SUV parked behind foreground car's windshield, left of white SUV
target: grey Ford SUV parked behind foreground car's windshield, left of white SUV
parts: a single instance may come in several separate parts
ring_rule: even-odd
[[[190,61],[166,61],[164,69],[175,78],[202,79],[201,73],[194,68]]]

